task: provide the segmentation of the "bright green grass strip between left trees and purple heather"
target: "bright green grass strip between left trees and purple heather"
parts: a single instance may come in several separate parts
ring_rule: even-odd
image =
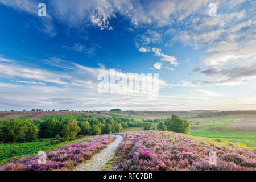
[[[85,140],[85,139],[81,139]],[[48,152],[55,150],[58,147],[64,146],[69,143],[77,143],[81,140],[61,142],[59,144],[50,144],[51,139],[44,139],[42,142],[27,142],[27,143],[1,143],[0,144],[0,166],[5,164],[8,159],[17,156],[29,156],[38,154],[39,151]]]

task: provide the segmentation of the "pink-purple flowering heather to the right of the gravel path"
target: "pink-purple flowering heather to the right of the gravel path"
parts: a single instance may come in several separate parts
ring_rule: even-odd
[[[117,170],[256,170],[256,150],[166,131],[121,133]],[[210,164],[210,152],[217,163]]]

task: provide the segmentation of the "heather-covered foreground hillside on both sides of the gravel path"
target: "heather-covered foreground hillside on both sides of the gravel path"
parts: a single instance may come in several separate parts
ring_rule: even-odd
[[[168,131],[119,133],[123,140],[108,169],[115,170],[255,170],[256,150]],[[2,170],[72,170],[92,159],[113,142],[114,135],[98,135],[47,152],[47,164],[39,156],[10,160]],[[216,164],[209,154],[216,152]],[[64,155],[66,154],[66,155]],[[101,153],[100,153],[101,154]],[[214,160],[213,160],[214,161]],[[110,165],[111,164],[111,165]]]

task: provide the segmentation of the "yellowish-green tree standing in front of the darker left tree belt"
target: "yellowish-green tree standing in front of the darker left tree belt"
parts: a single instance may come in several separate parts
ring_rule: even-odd
[[[66,140],[73,140],[76,139],[77,133],[80,131],[80,127],[77,126],[77,121],[75,119],[70,119],[64,126],[61,131],[63,137]]]

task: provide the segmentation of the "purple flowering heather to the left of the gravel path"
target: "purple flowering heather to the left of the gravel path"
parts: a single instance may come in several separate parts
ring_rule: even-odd
[[[92,156],[115,140],[114,135],[97,135],[87,137],[86,142],[72,143],[47,152],[46,164],[38,164],[40,156],[13,158],[0,167],[0,171],[48,171],[70,170]]]

